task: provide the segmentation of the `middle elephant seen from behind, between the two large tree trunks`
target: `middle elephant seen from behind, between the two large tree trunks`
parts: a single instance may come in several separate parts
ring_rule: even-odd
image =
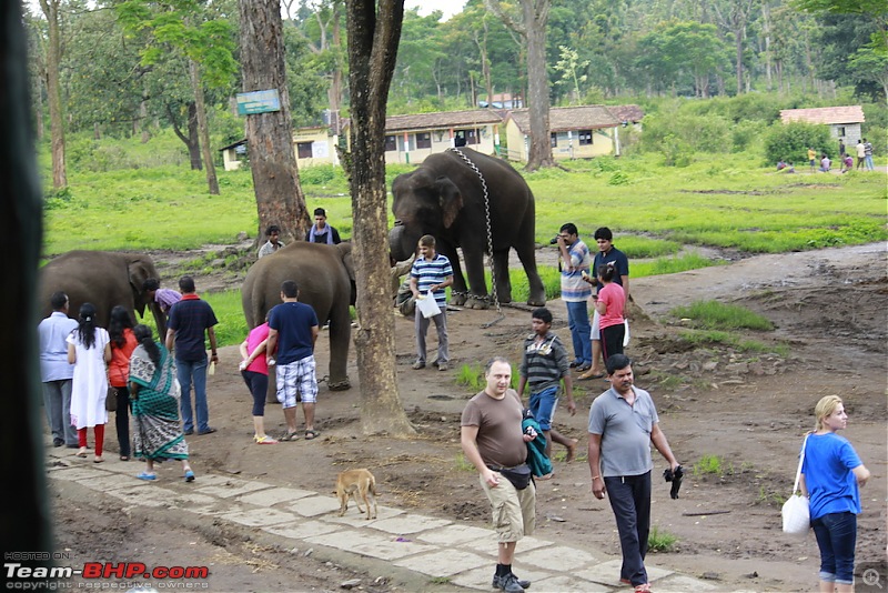
[[[246,272],[241,288],[243,314],[251,330],[281,302],[284,280],[296,281],[299,300],[314,309],[322,325],[330,321],[327,386],[331,391],[351,388],[345,364],[352,341],[349,306],[355,303],[356,296],[352,244],[347,241],[335,245],[296,241],[258,260]],[[271,396],[269,401],[273,401]]]

